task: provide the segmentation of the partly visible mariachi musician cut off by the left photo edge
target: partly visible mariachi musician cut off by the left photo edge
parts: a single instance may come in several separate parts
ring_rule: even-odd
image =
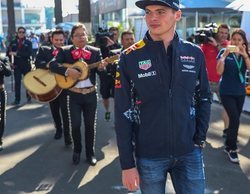
[[[3,150],[3,133],[6,119],[7,92],[4,89],[4,76],[11,75],[11,68],[8,57],[0,57],[0,151]]]

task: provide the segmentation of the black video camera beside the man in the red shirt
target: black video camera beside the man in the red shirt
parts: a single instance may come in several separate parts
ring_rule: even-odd
[[[216,23],[210,23],[205,25],[204,28],[199,28],[195,32],[195,43],[197,44],[204,44],[208,43],[209,37],[215,38],[217,33],[217,24]]]

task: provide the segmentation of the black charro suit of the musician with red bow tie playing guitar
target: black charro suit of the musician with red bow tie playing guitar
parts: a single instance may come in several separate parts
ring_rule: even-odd
[[[99,49],[86,46],[85,49],[91,53],[89,59],[83,59],[87,64],[91,64],[101,60],[101,52]],[[52,72],[66,75],[67,68],[61,66],[62,63],[74,64],[79,59],[74,59],[72,52],[76,50],[73,45],[63,47],[59,50],[56,60],[51,62],[50,70]],[[72,138],[74,142],[74,153],[82,152],[81,143],[81,117],[83,114],[84,126],[85,126],[85,151],[86,156],[91,157],[95,152],[95,133],[96,133],[96,108],[97,108],[97,95],[96,91],[92,90],[96,84],[96,73],[98,73],[97,68],[90,70],[89,81],[91,83],[91,88],[70,88],[69,89],[69,112],[70,112],[70,127],[72,128]],[[81,92],[89,91],[89,92]]]

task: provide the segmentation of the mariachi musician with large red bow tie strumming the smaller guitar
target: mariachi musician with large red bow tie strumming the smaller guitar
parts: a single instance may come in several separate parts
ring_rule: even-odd
[[[65,67],[63,63],[71,64],[84,61],[87,64],[102,60],[101,52],[98,48],[87,45],[88,37],[84,24],[76,24],[71,30],[71,40],[73,45],[65,46],[59,50],[56,60],[50,63],[50,70],[74,80],[80,78],[82,72],[76,68]],[[78,81],[73,87],[69,88],[69,112],[70,128],[74,143],[73,164],[80,162],[82,152],[81,143],[81,117],[83,114],[85,126],[85,152],[87,162],[96,165],[95,158],[95,134],[96,134],[96,73],[98,69],[104,69],[107,63],[103,60],[97,68],[89,70],[89,77]]]

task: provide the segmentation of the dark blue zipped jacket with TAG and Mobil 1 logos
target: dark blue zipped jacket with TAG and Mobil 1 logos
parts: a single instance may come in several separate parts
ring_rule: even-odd
[[[122,53],[115,87],[122,169],[135,166],[134,149],[136,157],[171,158],[206,139],[211,93],[198,46],[176,34],[166,52],[147,33]]]

